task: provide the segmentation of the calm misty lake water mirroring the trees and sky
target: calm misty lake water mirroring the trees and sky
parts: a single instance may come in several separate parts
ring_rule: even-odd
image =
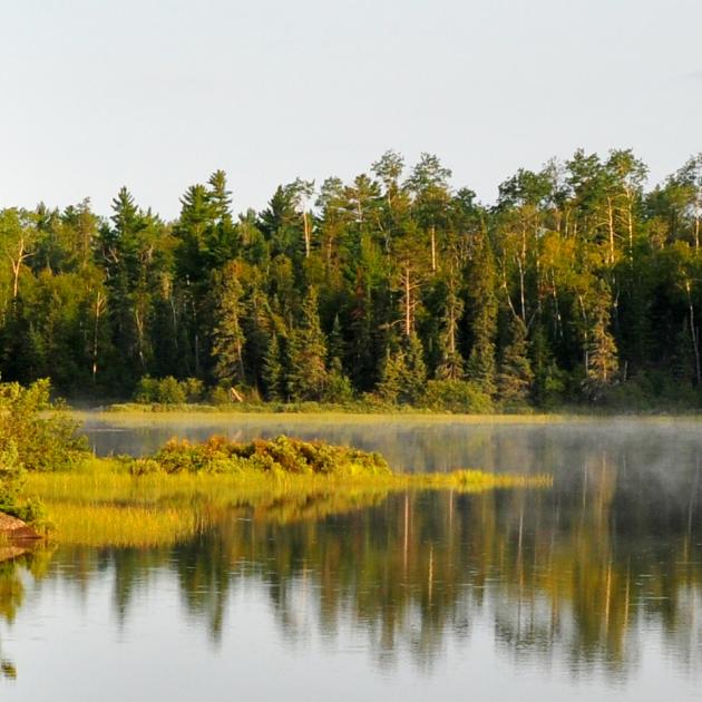
[[[99,454],[281,432],[553,489],[234,510],[168,548],[0,564],[3,700],[692,700],[702,423],[88,418]]]

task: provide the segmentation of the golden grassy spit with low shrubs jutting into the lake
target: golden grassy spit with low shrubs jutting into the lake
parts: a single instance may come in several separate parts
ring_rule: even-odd
[[[377,505],[391,493],[550,485],[547,475],[400,474],[345,447],[215,437],[169,442],[147,459],[90,458],[72,471],[32,472],[25,491],[46,504],[61,544],[146,548],[191,538],[232,510],[289,523]]]

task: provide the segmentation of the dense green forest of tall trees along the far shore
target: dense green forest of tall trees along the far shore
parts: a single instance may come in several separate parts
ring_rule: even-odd
[[[388,152],[238,216],[223,172],[174,222],[126,188],[107,218],[88,201],[7,208],[2,379],[82,397],[173,377],[250,400],[694,406],[702,154],[652,189],[646,170],[631,150],[579,150],[486,206],[436,156],[408,169]]]

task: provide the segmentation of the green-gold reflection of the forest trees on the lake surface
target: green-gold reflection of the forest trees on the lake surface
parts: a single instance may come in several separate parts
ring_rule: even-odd
[[[165,574],[215,646],[237,625],[232,594],[248,586],[290,647],[352,632],[389,671],[403,656],[430,674],[447,645],[479,628],[516,667],[557,661],[574,677],[617,680],[637,671],[653,632],[664,659],[696,676],[700,462],[679,459],[671,479],[627,456],[591,450],[553,490],[411,493],[340,513],[325,505],[323,516],[314,505],[237,508],[173,548],[25,556],[0,564],[0,614],[11,621],[25,606],[27,572],[39,588],[70,583],[76,598],[108,575],[125,626]]]

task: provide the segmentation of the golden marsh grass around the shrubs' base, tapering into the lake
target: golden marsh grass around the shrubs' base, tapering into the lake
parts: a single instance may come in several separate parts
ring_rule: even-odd
[[[299,475],[262,471],[133,476],[119,461],[90,459],[77,471],[30,474],[27,495],[40,498],[53,538],[94,547],[168,546],[194,536],[231,509],[259,520],[323,518],[380,504],[391,493],[484,493],[548,488],[547,475],[448,474]]]

